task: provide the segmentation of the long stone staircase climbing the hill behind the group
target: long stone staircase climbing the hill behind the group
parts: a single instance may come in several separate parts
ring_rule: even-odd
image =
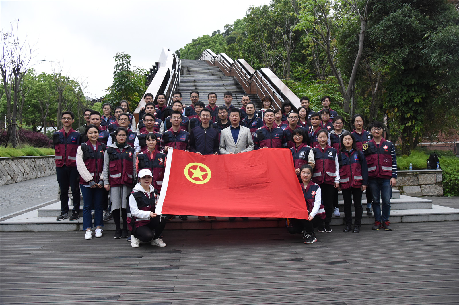
[[[246,95],[235,77],[225,76],[217,66],[210,66],[204,60],[180,60],[180,84],[178,89],[182,93],[182,103],[190,105],[190,92],[199,91],[199,100],[207,105],[207,93],[217,94],[217,105],[224,104],[224,93],[233,93],[233,105],[241,108],[241,99]],[[256,94],[247,94],[256,109],[261,109],[260,98]]]

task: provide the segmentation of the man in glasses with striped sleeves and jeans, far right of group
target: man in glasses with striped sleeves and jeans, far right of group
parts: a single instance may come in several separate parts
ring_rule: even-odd
[[[384,125],[373,122],[369,125],[373,139],[362,146],[368,164],[368,187],[373,195],[375,225],[372,230],[383,227],[392,231],[389,216],[391,213],[392,187],[397,184],[397,157],[392,142],[382,137]],[[382,210],[380,205],[382,201]]]

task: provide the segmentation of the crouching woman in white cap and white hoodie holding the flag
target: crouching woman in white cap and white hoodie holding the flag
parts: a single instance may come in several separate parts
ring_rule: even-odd
[[[165,247],[159,238],[166,226],[166,220],[155,213],[158,192],[151,182],[153,174],[150,169],[141,169],[138,174],[139,183],[134,186],[129,196],[128,227],[131,231],[131,246],[140,247],[140,241],[150,242],[151,245]],[[154,233],[153,233],[154,231]]]

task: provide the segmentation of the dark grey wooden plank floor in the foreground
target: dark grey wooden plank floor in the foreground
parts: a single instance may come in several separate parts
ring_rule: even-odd
[[[2,232],[1,304],[458,304],[459,223],[394,231],[164,231],[131,248],[112,231]]]

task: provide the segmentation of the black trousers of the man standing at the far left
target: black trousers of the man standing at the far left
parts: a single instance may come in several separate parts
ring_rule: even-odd
[[[61,212],[68,213],[68,188],[72,190],[73,212],[80,212],[80,174],[76,166],[56,166],[56,178],[61,189]]]

